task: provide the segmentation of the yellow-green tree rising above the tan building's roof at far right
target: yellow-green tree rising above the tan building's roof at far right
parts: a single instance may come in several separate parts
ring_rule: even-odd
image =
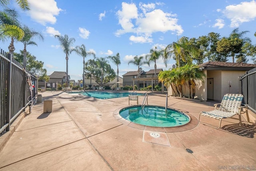
[[[246,59],[246,54],[243,51],[243,47],[246,44],[250,44],[250,38],[243,38],[244,34],[248,31],[238,32],[239,29],[234,29],[228,38],[223,37],[220,41],[218,41],[216,50],[222,53],[223,56],[232,57],[232,62],[234,62],[234,58],[238,60],[236,62],[246,63],[248,60]]]

